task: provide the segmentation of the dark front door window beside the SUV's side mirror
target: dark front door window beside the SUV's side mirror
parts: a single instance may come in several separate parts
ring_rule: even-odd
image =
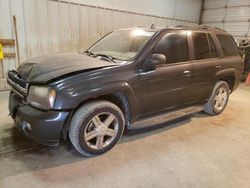
[[[153,53],[164,54],[167,63],[177,63],[189,60],[187,35],[168,33],[154,47]]]

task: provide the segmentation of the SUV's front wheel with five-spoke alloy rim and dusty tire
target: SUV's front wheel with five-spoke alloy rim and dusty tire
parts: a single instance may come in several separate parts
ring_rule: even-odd
[[[73,115],[69,138],[79,153],[86,157],[96,156],[114,147],[124,127],[124,115],[119,107],[109,101],[92,101]]]

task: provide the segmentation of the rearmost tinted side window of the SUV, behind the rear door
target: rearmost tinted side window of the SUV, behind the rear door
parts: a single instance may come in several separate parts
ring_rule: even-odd
[[[234,55],[239,55],[238,48],[233,40],[232,37],[228,35],[216,35],[224,56],[234,56]]]

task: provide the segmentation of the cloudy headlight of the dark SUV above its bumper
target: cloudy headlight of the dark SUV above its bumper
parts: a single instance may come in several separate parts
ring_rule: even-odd
[[[49,87],[31,86],[27,101],[34,107],[48,110],[53,108],[56,99],[56,92]]]

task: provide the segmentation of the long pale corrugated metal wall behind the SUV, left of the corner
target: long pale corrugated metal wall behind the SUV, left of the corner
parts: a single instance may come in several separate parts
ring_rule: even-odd
[[[15,15],[22,62],[34,56],[86,49],[106,33],[118,28],[149,26],[152,23],[157,26],[195,24],[198,20],[201,1],[187,0],[182,3],[180,0],[159,0],[158,4],[151,1],[151,4],[165,5],[165,8],[164,6],[158,7],[159,12],[163,14],[164,9],[171,10],[172,16],[170,16],[175,19],[149,15],[146,12],[141,13],[147,9],[156,9],[150,9],[150,4],[145,4],[146,1],[144,4],[143,1],[140,3],[136,1],[137,3],[132,4],[133,0],[129,0],[127,3],[120,0],[118,6],[115,3],[118,1],[106,0],[107,5],[117,4],[113,7],[122,8],[125,4],[125,7],[132,7],[126,10],[118,10],[110,8],[110,6],[103,8],[100,5],[105,5],[104,0],[97,0],[98,6],[94,5],[95,1],[84,2],[83,0],[0,0],[0,38],[14,39],[12,16]],[[168,3],[171,6],[166,6]],[[193,3],[193,9],[190,3]],[[142,7],[138,6],[139,4]],[[133,8],[133,5],[138,8]],[[196,13],[194,13],[194,9],[197,11]],[[131,10],[138,10],[139,13],[131,12]],[[157,12],[157,10],[154,11]],[[188,12],[190,12],[190,16],[188,16]],[[164,13],[164,15],[168,14]],[[5,47],[4,51],[14,52],[15,49]],[[5,73],[17,66],[15,59],[4,59],[3,64]],[[0,89],[6,87],[4,82],[4,79],[0,79]]]

